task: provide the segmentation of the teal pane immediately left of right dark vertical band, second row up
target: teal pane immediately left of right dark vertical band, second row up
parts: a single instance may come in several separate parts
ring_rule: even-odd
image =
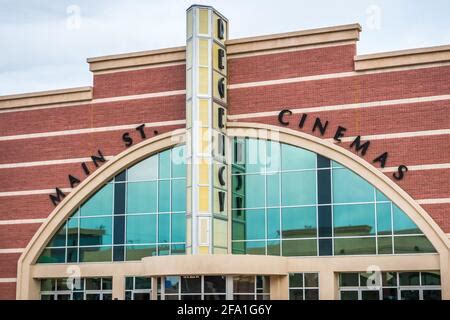
[[[281,221],[283,239],[317,237],[315,206],[283,208]]]

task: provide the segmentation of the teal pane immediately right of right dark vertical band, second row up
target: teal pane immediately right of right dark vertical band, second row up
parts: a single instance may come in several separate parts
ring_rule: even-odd
[[[374,204],[333,206],[335,236],[364,236],[375,234]]]

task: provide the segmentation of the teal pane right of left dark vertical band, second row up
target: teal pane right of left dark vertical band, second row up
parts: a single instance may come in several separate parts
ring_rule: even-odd
[[[155,214],[127,216],[127,244],[156,243]]]

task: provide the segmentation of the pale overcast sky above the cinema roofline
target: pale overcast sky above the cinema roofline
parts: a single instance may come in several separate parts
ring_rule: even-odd
[[[358,54],[450,44],[449,0],[0,0],[0,95],[91,85],[88,57],[184,45],[193,3],[231,39],[359,22]]]

